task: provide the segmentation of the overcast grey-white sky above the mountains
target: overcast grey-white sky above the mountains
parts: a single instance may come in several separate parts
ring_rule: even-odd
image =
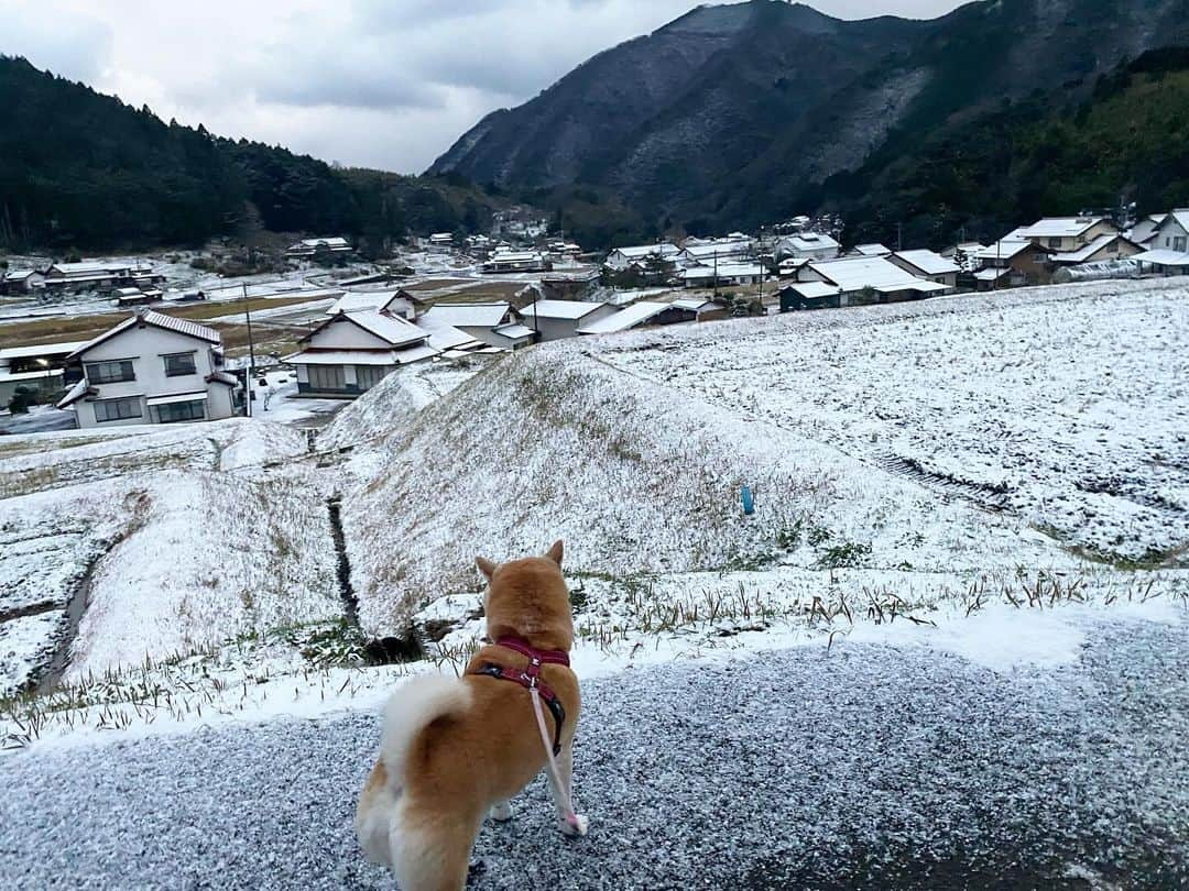
[[[932,18],[957,0],[814,0]],[[0,0],[0,52],[166,121],[420,172],[487,112],[531,99],[691,0]]]

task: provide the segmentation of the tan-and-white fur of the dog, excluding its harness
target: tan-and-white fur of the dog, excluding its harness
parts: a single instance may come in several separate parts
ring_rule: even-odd
[[[520,637],[537,650],[573,645],[570,593],[561,576],[562,544],[545,557],[496,565],[479,557],[490,582],[485,609],[487,636]],[[523,668],[528,658],[504,647],[484,646],[458,681],[433,678],[438,687],[414,685],[394,694],[385,742],[359,798],[356,827],[364,849],[392,867],[402,891],[457,891],[466,884],[474,836],[484,816],[507,820],[508,801],[546,766],[547,756],[523,687],[472,674],[485,663]],[[580,697],[578,678],[564,665],[545,665],[542,680],[566,710],[562,751],[558,758],[564,785],[570,784],[574,728]],[[454,687],[457,684],[458,687]],[[420,699],[414,699],[420,694]],[[407,719],[402,703],[413,714]],[[402,728],[416,716],[422,727]],[[552,739],[553,716],[546,712]],[[408,742],[404,744],[408,734]],[[396,750],[396,751],[391,751]],[[391,763],[391,762],[402,763]],[[573,833],[561,819],[566,790],[551,789],[559,828]],[[384,838],[382,838],[384,836]]]

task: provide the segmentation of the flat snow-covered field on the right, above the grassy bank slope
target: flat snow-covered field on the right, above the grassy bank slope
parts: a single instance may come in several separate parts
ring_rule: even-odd
[[[1189,284],[1112,282],[605,340],[616,368],[1114,561],[1189,542]]]

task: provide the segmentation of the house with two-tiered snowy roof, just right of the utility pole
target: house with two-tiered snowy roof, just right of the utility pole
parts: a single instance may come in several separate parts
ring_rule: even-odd
[[[297,369],[304,396],[354,398],[402,366],[432,359],[429,331],[389,312],[339,312],[281,361]]]

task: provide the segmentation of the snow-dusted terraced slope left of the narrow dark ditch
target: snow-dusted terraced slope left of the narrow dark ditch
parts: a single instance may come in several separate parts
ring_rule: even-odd
[[[341,615],[304,450],[246,421],[0,441],[0,693],[64,645],[82,677]]]

